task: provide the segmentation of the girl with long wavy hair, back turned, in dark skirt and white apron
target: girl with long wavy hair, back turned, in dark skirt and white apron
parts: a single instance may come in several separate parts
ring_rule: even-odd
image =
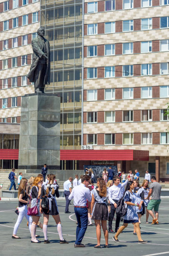
[[[91,216],[96,225],[96,236],[97,245],[94,248],[101,248],[101,226],[104,233],[104,238],[106,241],[105,248],[108,248],[108,230],[107,230],[107,220],[108,220],[108,207],[106,205],[107,199],[107,187],[106,182],[103,178],[97,179],[97,188],[92,191],[91,200]]]

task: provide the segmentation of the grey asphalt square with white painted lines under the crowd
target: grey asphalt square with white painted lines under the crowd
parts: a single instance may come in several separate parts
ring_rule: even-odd
[[[113,254],[120,256],[145,256],[145,255],[169,255],[169,198],[163,197],[159,207],[159,223],[160,225],[151,225],[145,223],[145,215],[141,218],[141,236],[147,240],[147,244],[138,244],[137,236],[133,235],[133,225],[129,224],[124,232],[119,236],[121,243],[114,243],[112,235],[109,234],[109,248],[104,248],[103,232],[101,236],[101,249],[93,248],[96,245],[96,228],[89,226],[86,230],[82,243],[86,244],[86,248],[74,248],[76,240],[76,217],[73,205],[70,205],[71,214],[65,214],[65,201],[58,201],[59,212],[61,217],[61,225],[63,238],[69,241],[69,244],[60,244],[57,228],[52,216],[49,218],[48,238],[50,244],[30,243],[30,232],[27,227],[27,220],[23,219],[20,224],[17,235],[22,239],[12,239],[13,227],[17,220],[14,213],[18,202],[1,201],[0,202],[0,256],[8,255],[103,255]],[[43,217],[40,218],[43,222]],[[151,217],[149,217],[151,221]],[[122,223],[122,222],[121,222]],[[114,221],[113,221],[114,228]],[[44,241],[43,230],[37,228],[40,235],[39,240]]]

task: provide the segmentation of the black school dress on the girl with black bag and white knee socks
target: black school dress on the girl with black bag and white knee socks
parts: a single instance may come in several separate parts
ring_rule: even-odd
[[[58,191],[58,185],[54,185],[54,184],[44,184],[42,186],[42,189],[41,189],[41,197],[40,199],[43,198],[44,195],[46,195],[46,189],[47,189],[47,185],[49,185],[49,192],[50,192],[50,195],[48,195],[48,200],[50,200],[49,202],[49,205],[50,205],[50,209],[43,209],[42,208],[42,211],[44,214],[46,215],[58,215],[59,214],[59,211],[58,211],[58,205],[57,205],[57,202],[55,200],[55,197],[59,197],[59,191]],[[54,195],[51,195],[51,191],[52,191],[52,187],[53,189],[55,190],[55,194]]]

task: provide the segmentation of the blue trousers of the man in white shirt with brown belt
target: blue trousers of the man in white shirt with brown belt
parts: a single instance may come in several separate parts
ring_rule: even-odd
[[[75,207],[74,210],[75,210],[76,219],[78,222],[78,225],[76,228],[75,244],[80,244],[88,226],[88,209]]]

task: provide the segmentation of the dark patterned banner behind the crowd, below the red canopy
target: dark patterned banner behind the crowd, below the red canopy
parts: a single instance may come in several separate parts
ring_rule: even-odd
[[[93,170],[94,178],[95,178],[95,180],[97,180],[98,178],[102,178],[104,168],[106,168],[108,171],[110,165],[101,165],[101,164],[92,165],[91,164],[91,165],[83,165],[83,166],[84,166],[84,173],[86,172],[86,168],[87,169],[91,168]],[[117,166],[112,165],[111,169],[114,170],[114,176],[116,176],[117,175]]]

